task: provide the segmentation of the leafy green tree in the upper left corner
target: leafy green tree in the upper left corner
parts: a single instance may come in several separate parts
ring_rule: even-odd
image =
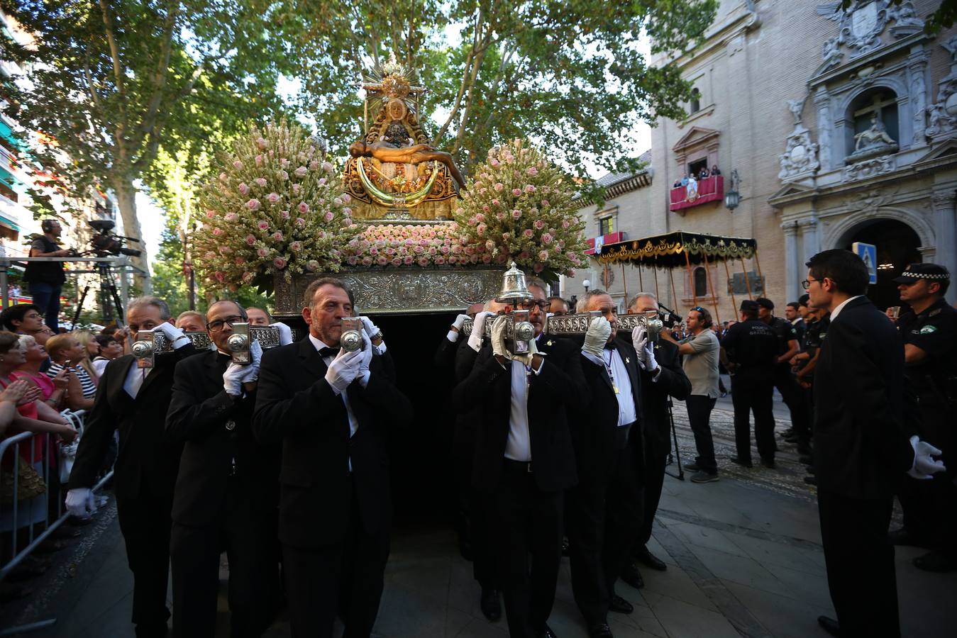
[[[5,91],[8,114],[56,139],[35,159],[80,191],[117,196],[124,231],[139,236],[134,184],[156,160],[209,137],[215,119],[278,108],[284,57],[271,55],[260,0],[0,0],[33,36],[0,38],[27,69]],[[175,131],[174,135],[170,131]],[[62,152],[60,152],[62,151]],[[139,259],[146,269],[145,254]],[[146,284],[148,286],[148,284]]]

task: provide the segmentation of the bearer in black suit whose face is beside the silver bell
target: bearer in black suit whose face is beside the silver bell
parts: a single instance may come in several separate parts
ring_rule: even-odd
[[[535,328],[530,351],[509,352],[504,329],[511,319],[495,319],[491,343],[452,398],[459,412],[478,411],[473,476],[494,526],[513,638],[554,636],[546,622],[562,560],[565,490],[577,480],[568,409],[588,397],[578,346],[542,335],[545,288],[532,282],[529,290],[534,299],[521,306]]]

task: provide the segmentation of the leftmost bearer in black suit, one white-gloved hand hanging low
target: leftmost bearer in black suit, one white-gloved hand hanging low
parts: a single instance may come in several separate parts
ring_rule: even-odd
[[[126,558],[133,571],[133,623],[139,638],[153,638],[167,634],[170,510],[183,450],[167,440],[167,407],[173,368],[195,350],[183,331],[173,326],[166,301],[157,297],[130,301],[126,323],[134,340],[140,330],[163,332],[174,350],[157,355],[152,368],[138,367],[132,355],[106,364],[79,440],[66,504],[78,517],[95,509],[90,488],[113,432],[119,429],[114,485]]]

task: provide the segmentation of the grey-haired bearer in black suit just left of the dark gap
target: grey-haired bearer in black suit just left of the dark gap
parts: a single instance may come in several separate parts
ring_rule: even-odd
[[[340,349],[352,316],[345,284],[306,288],[309,334],[266,352],[253,429],[282,443],[279,542],[295,638],[330,637],[337,613],[345,636],[368,636],[389,559],[389,431],[411,418],[409,400],[373,356]]]

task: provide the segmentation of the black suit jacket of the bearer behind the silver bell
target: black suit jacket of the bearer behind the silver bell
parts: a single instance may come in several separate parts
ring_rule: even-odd
[[[538,348],[545,353],[545,363],[539,374],[532,374],[527,395],[532,473],[541,490],[557,492],[578,480],[568,410],[587,402],[590,393],[578,346],[543,335]],[[463,357],[470,357],[469,350],[462,350]],[[452,393],[456,410],[477,410],[479,433],[473,482],[483,492],[495,490],[501,481],[512,400],[510,363],[502,367],[492,356],[491,346],[482,346],[472,372]]]

